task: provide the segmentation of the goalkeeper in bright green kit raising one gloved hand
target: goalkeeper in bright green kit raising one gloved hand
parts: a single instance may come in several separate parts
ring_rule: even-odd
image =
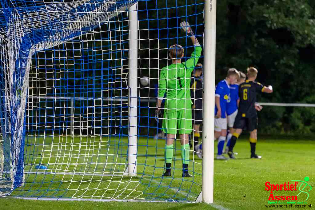
[[[186,62],[181,63],[184,57],[184,48],[174,44],[169,48],[169,57],[172,64],[164,67],[159,76],[158,99],[156,116],[160,115],[160,106],[166,92],[162,129],[167,133],[165,148],[166,171],[164,177],[171,175],[171,163],[174,152],[174,140],[179,133],[181,157],[183,162],[183,177],[192,177],[188,173],[189,163],[189,134],[192,132],[192,102],[190,96],[190,79],[202,48],[192,32],[188,22],[180,23],[181,29],[186,32],[194,45],[194,51]]]

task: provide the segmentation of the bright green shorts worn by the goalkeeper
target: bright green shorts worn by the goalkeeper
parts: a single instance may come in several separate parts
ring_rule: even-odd
[[[162,130],[168,134],[189,134],[192,132],[192,110],[183,109],[171,113],[164,112]]]

